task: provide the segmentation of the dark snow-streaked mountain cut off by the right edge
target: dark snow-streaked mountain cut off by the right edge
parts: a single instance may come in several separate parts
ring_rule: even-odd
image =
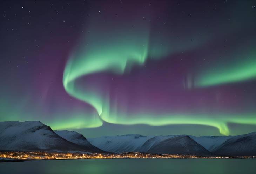
[[[256,156],[256,132],[229,138],[214,151],[219,155]]]

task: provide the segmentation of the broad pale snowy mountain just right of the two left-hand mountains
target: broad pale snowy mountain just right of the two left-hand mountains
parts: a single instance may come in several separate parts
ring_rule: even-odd
[[[149,138],[151,137],[142,136],[139,134],[127,134],[88,138],[88,141],[102,150],[114,153],[124,153],[134,152]]]

